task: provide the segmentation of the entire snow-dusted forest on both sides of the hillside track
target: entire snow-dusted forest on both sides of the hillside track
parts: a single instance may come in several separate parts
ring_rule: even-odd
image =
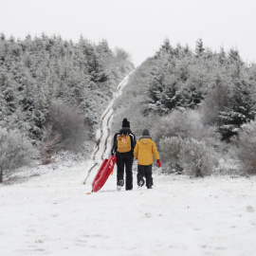
[[[92,150],[119,82],[135,69],[130,54],[83,37],[24,40],[0,35],[0,181],[3,172],[57,152]],[[166,174],[256,173],[256,65],[237,49],[212,51],[201,39],[162,46],[140,64],[114,103],[137,139],[155,140]]]

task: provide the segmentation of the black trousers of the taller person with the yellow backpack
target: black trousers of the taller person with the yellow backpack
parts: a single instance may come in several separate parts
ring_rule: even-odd
[[[119,181],[123,180],[124,166],[125,166],[125,190],[130,191],[133,189],[133,163],[134,163],[134,153],[132,151],[126,153],[117,152],[117,167],[118,176],[117,184]]]

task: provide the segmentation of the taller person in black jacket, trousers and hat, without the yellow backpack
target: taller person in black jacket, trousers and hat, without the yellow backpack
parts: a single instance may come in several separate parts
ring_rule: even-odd
[[[121,135],[129,135],[131,140],[131,150],[125,153],[119,153],[118,149],[118,139]],[[119,133],[114,136],[114,143],[111,150],[111,155],[117,156],[117,185],[118,191],[124,184],[123,174],[125,167],[125,190],[130,191],[133,189],[133,163],[134,163],[134,149],[136,146],[136,136],[132,133],[130,129],[130,122],[127,119],[122,120],[122,128]]]

